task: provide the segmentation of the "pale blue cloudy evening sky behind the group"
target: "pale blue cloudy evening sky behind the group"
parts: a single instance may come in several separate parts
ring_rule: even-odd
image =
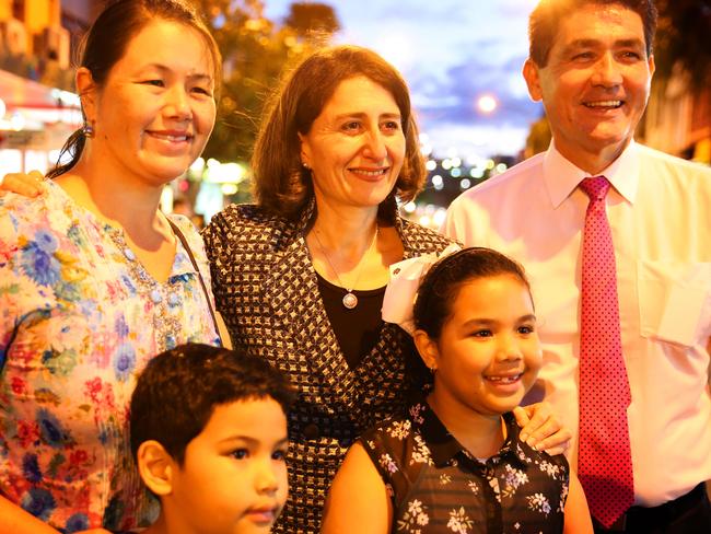
[[[267,0],[275,13],[290,0]],[[340,43],[378,51],[410,86],[422,130],[433,146],[514,154],[541,114],[521,76],[527,18],[537,0],[338,0]],[[281,8],[279,5],[282,4]],[[477,98],[492,93],[496,113]]]

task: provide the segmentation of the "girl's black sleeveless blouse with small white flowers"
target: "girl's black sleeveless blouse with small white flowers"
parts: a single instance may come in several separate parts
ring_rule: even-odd
[[[393,500],[391,532],[563,531],[568,461],[529,448],[518,439],[513,415],[503,417],[508,438],[485,461],[473,457],[421,399],[406,417],[361,437]]]

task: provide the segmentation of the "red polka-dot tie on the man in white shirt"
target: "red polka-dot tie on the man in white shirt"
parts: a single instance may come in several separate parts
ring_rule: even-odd
[[[578,469],[592,515],[609,527],[632,506],[634,481],[627,407],[631,395],[620,341],[615,248],[605,176],[585,178]]]

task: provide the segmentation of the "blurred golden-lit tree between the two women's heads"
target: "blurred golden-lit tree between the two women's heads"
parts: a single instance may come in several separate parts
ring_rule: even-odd
[[[279,25],[264,14],[263,0],[191,0],[214,35],[223,59],[224,79],[218,121],[203,156],[248,162],[268,95],[279,84],[283,69],[299,61],[313,46],[301,30]],[[318,4],[316,4],[318,5]],[[293,9],[292,9],[293,11]],[[330,10],[338,28],[336,15]],[[322,27],[323,11],[300,19],[304,27]],[[288,22],[288,21],[287,21]]]

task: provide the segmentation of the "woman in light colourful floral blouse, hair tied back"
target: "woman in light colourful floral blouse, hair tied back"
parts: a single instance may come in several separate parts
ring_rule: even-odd
[[[150,514],[128,446],[135,378],[152,355],[218,343],[202,242],[159,201],[212,130],[220,66],[180,2],[114,3],[77,72],[73,158],[44,195],[0,199],[0,532]]]

